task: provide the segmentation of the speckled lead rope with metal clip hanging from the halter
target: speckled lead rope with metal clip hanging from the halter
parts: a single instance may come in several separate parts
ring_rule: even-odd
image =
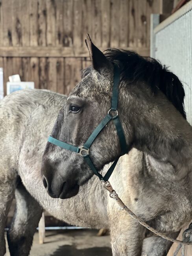
[[[179,245],[177,246],[177,249],[174,252],[173,256],[177,256],[179,250],[181,249],[181,254],[182,256],[185,256],[185,245],[192,245],[192,223],[189,225],[188,229],[186,229],[183,232],[183,241],[177,240],[177,239],[172,239],[168,236],[165,236],[164,234],[162,234],[161,232],[157,231],[155,228],[152,228],[150,225],[148,225],[146,222],[144,222],[142,219],[140,219],[140,217],[138,217],[137,215],[135,215],[135,213],[133,213],[133,211],[131,211],[125,204],[124,202],[122,202],[122,200],[118,197],[118,194],[116,193],[116,191],[113,189],[113,187],[111,186],[110,182],[107,181],[103,181],[104,183],[104,187],[105,189],[107,189],[109,191],[109,196],[111,198],[113,198],[118,206],[120,206],[120,209],[127,211],[127,213],[136,221],[138,221],[142,226],[144,226],[145,228],[147,228],[148,230],[150,230],[151,232],[153,232],[154,234],[156,234],[157,236],[160,236],[166,240],[169,240],[171,242],[176,242],[179,243]]]

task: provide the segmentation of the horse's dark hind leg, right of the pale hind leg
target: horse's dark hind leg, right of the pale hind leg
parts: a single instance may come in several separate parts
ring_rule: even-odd
[[[9,251],[11,256],[28,256],[33,235],[42,215],[42,208],[22,183],[17,186],[15,198],[16,210],[7,233]]]

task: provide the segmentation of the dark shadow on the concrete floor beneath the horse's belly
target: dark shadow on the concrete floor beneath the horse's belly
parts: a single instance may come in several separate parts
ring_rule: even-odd
[[[50,256],[112,256],[111,248],[109,247],[93,247],[87,249],[76,249],[72,245],[63,245]]]

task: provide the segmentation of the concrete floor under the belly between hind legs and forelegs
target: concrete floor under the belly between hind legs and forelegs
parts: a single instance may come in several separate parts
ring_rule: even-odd
[[[30,256],[112,256],[110,237],[98,237],[97,232],[90,229],[46,231],[43,245],[39,245],[36,232]],[[6,256],[10,256],[8,248]]]

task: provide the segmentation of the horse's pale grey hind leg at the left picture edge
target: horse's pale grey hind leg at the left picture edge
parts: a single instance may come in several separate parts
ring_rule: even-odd
[[[5,225],[15,192],[16,175],[0,171],[0,256],[6,253]]]

